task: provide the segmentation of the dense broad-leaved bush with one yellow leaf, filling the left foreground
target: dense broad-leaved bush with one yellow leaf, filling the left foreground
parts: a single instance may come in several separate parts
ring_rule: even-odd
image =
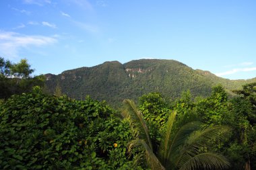
[[[129,122],[104,103],[33,93],[0,105],[0,169],[139,169]]]

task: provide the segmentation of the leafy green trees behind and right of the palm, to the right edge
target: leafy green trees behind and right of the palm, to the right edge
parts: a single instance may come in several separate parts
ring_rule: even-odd
[[[230,169],[255,169],[255,124],[253,124],[253,88],[254,83],[245,85],[243,90],[236,90],[239,95],[228,99],[221,85],[213,87],[212,95],[207,98],[197,97],[195,100],[184,96],[173,103],[179,115],[191,116],[196,113],[203,121],[203,126],[228,125],[232,128],[230,138],[226,141],[216,141],[214,151],[222,152],[231,163]],[[188,92],[186,92],[188,93]],[[243,94],[245,93],[245,95]],[[189,96],[189,94],[187,94]],[[247,96],[247,97],[245,97]]]

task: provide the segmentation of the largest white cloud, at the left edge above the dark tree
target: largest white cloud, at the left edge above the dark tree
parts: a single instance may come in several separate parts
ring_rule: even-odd
[[[30,46],[46,46],[57,42],[51,36],[28,36],[0,30],[0,55],[5,58],[18,57],[20,50]]]

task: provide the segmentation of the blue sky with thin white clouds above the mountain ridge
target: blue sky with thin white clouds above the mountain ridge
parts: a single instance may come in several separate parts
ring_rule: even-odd
[[[34,75],[105,61],[172,59],[256,77],[255,0],[1,0],[0,56]]]

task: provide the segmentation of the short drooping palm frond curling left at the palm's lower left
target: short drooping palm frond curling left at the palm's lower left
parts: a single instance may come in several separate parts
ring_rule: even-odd
[[[152,149],[148,144],[139,138],[131,140],[128,144],[128,153],[131,153],[133,148],[143,148],[145,151],[146,161],[152,170],[165,170],[156,155],[153,153]]]

